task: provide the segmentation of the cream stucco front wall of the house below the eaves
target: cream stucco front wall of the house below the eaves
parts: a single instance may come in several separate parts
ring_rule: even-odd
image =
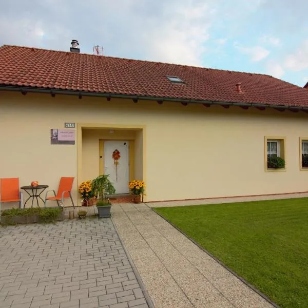
[[[148,201],[308,190],[308,172],[299,168],[299,137],[308,136],[303,112],[34,93],[0,92],[0,176],[20,177],[21,185],[38,180],[52,189],[61,176],[94,176],[98,143],[88,135],[82,154],[90,149],[93,165],[83,175],[77,144],[50,145],[50,129],[64,128],[64,122],[144,125],[135,147],[136,160],[145,153]],[[264,136],[286,137],[286,171],[264,171]],[[75,198],[76,189],[77,180]]]

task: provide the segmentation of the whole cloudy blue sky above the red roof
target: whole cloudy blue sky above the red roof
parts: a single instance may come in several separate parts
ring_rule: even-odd
[[[265,73],[308,82],[307,0],[10,0],[0,46]]]

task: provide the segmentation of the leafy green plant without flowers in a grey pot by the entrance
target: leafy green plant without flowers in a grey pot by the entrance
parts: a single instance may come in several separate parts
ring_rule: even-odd
[[[93,195],[97,197],[99,218],[110,217],[111,203],[107,196],[114,194],[115,189],[108,178],[109,175],[101,175],[92,181]]]

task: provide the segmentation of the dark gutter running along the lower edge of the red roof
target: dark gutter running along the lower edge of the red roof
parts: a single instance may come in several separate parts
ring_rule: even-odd
[[[131,95],[131,94],[115,94],[115,93],[97,93],[87,91],[74,91],[74,90],[56,90],[46,88],[31,88],[31,87],[16,87],[16,86],[0,86],[0,90],[15,91],[15,92],[33,92],[45,94],[65,94],[65,95],[79,95],[87,97],[103,97],[114,99],[132,99],[132,100],[147,100],[147,101],[160,101],[160,102],[181,102],[181,103],[194,103],[206,105],[221,105],[221,106],[239,106],[239,107],[257,107],[257,108],[276,108],[276,109],[292,109],[292,110],[306,110],[308,107],[301,106],[283,106],[283,105],[269,105],[260,103],[241,103],[241,102],[219,102],[219,101],[206,101],[206,100],[190,100],[181,98],[168,98],[168,97],[152,97],[146,95]]]

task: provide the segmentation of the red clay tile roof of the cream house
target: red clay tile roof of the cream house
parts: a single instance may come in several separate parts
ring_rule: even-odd
[[[0,47],[0,86],[308,107],[307,89],[269,75],[8,45]]]

